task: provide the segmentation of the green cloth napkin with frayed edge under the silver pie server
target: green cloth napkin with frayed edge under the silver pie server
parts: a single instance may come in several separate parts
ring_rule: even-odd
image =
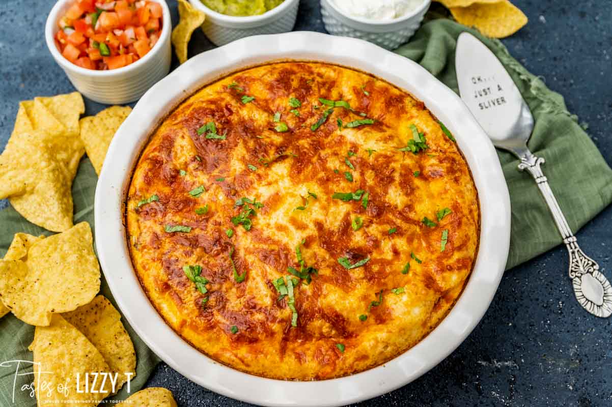
[[[529,73],[501,42],[454,21],[433,20],[424,24],[409,43],[395,52],[419,62],[458,94],[455,46],[463,31],[476,35],[493,51],[527,101],[535,118],[529,149],[545,158],[542,171],[569,226],[577,232],[612,202],[612,170],[578,125],[577,118],[567,111],[561,95]],[[510,153],[498,150],[498,156],[512,205],[507,270],[554,248],[562,239],[531,175],[517,169],[519,161]]]

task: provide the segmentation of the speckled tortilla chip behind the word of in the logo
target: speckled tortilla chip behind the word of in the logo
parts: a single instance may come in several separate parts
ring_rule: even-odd
[[[92,375],[110,372],[102,354],[61,315],[53,315],[49,326],[36,327],[29,350],[34,352],[34,377],[38,378],[41,372],[40,381],[34,380],[35,387],[40,383],[36,388],[38,407],[94,407],[110,394],[110,381],[100,388],[102,377],[94,383],[96,376]],[[92,392],[92,387],[99,392]]]

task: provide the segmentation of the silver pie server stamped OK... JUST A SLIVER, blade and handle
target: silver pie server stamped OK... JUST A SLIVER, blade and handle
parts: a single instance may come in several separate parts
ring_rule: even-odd
[[[569,276],[578,303],[597,317],[610,317],[610,282],[600,273],[597,262],[578,247],[540,168],[544,159],[533,155],[527,148],[534,118],[517,86],[497,57],[468,32],[459,35],[455,64],[461,99],[493,144],[516,155],[521,160],[518,168],[527,170],[537,182],[569,251]]]

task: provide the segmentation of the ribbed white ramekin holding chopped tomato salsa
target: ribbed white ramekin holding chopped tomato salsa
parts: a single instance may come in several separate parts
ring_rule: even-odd
[[[140,99],[170,71],[172,48],[170,9],[165,0],[155,0],[162,5],[162,36],[143,58],[127,67],[98,71],[78,67],[59,52],[53,40],[58,32],[58,21],[75,0],[59,0],[51,9],[45,26],[47,47],[55,61],[64,70],[73,86],[91,100],[107,105],[123,105]]]

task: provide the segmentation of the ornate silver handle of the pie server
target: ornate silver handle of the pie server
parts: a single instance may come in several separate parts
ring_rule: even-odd
[[[570,255],[569,276],[572,279],[578,303],[597,317],[610,317],[612,315],[612,286],[608,279],[600,273],[597,262],[584,254],[578,247],[576,237],[567,224],[561,207],[554,197],[553,190],[550,189],[548,180],[544,176],[542,168],[540,168],[544,159],[533,155],[529,151],[521,155],[520,159],[521,163],[518,164],[518,169],[527,170],[534,177],[542,196],[548,204],[548,208],[553,214],[554,222],[563,237],[563,243],[567,246]]]

